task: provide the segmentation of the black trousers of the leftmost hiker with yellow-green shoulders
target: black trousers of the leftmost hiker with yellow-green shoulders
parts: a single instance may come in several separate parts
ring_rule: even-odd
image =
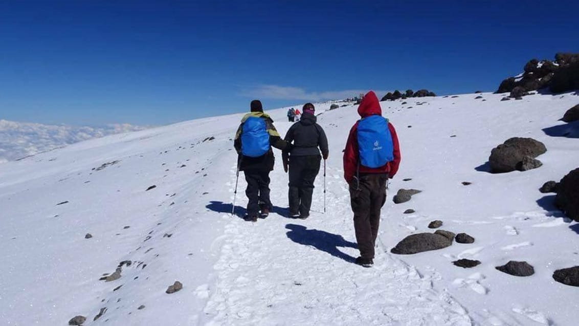
[[[247,189],[245,195],[247,203],[247,215],[259,215],[259,210],[267,208],[272,210],[272,202],[269,199],[269,170],[244,171]]]

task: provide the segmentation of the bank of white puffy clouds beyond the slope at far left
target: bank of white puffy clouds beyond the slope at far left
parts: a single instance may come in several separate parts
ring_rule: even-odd
[[[145,128],[127,123],[104,127],[74,127],[0,120],[0,163],[95,137],[142,129]]]

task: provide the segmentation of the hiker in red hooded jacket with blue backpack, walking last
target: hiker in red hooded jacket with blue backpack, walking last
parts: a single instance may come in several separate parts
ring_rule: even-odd
[[[400,146],[394,126],[383,118],[378,97],[369,91],[360,102],[358,120],[350,130],[344,151],[344,178],[349,184],[350,204],[360,257],[356,263],[373,264],[380,209],[386,202],[388,179],[400,164]]]

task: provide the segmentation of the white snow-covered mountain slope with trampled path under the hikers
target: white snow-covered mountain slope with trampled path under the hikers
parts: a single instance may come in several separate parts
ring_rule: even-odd
[[[479,95],[486,101],[475,100]],[[330,142],[327,213],[320,173],[314,212],[304,221],[285,217],[287,175],[279,160],[271,174],[273,213],[256,223],[229,214],[232,137],[242,115],[112,135],[2,164],[0,324],[67,325],[82,315],[84,325],[576,325],[579,288],[551,276],[578,265],[579,225],[538,188],[579,166],[578,139],[556,137],[566,129],[558,119],[579,96],[501,97],[381,102],[397,128],[402,163],[369,269],[352,263],[358,251],[342,178],[356,107],[317,105]],[[269,112],[281,134],[290,127],[285,111]],[[544,165],[486,172],[490,150],[510,137],[544,142]],[[423,192],[396,205],[391,198],[400,188]],[[241,176],[238,215],[244,189]],[[402,214],[408,208],[416,213]],[[405,236],[431,232],[434,219],[475,242],[390,253]],[[482,264],[452,265],[459,258]],[[536,273],[515,277],[494,268],[510,260],[527,261]],[[119,279],[99,280],[119,265]],[[182,290],[166,294],[175,280]]]

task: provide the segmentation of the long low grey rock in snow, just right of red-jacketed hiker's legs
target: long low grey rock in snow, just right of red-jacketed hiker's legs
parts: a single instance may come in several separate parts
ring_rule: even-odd
[[[452,232],[441,232],[437,230],[436,233],[417,233],[416,235],[409,235],[402,239],[391,252],[399,255],[411,255],[418,252],[437,250],[446,248],[452,245],[454,234]],[[452,236],[450,236],[452,235]]]

